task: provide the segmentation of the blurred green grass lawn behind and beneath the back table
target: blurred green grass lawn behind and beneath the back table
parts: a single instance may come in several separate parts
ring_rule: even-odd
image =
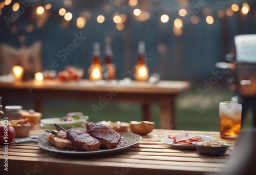
[[[176,99],[177,129],[218,131],[219,102],[230,101],[232,96],[233,91],[216,86],[200,98],[196,88],[190,88]],[[25,110],[33,108],[32,101],[18,103],[24,106]],[[97,104],[98,101],[47,99],[44,101],[42,118],[63,117],[70,112],[82,112],[84,115],[88,115],[89,121],[92,122],[101,120],[123,122],[142,120],[140,104],[111,102],[102,110],[97,111],[96,115],[91,107],[93,103]],[[157,105],[152,106],[152,114],[156,128],[160,128],[160,110]],[[242,128],[250,128],[251,121],[252,115],[249,113]]]

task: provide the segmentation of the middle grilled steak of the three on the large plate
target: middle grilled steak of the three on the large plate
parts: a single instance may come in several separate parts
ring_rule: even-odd
[[[100,141],[83,130],[69,129],[67,131],[67,138],[79,150],[95,151],[100,146]]]

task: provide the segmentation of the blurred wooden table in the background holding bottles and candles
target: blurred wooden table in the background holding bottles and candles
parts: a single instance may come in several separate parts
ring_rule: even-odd
[[[0,82],[0,96],[3,98],[32,97],[35,111],[42,112],[43,98],[96,99],[92,105],[95,114],[110,101],[136,102],[142,104],[143,120],[151,121],[151,104],[160,105],[161,128],[175,129],[175,97],[190,86],[186,81],[159,81],[151,84],[143,81],[106,81],[90,80],[78,82],[45,81],[35,85],[33,81],[16,83]]]

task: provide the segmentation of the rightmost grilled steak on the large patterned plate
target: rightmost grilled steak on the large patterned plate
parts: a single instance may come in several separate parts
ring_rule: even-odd
[[[106,148],[116,148],[120,142],[121,136],[110,127],[99,123],[87,123],[87,132],[98,139]]]

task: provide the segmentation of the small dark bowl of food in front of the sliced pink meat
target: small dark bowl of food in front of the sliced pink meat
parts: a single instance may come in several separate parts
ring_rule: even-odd
[[[201,155],[206,156],[224,156],[229,147],[229,144],[227,143],[220,143],[216,141],[203,144],[192,142],[192,144],[197,146],[197,150]]]

